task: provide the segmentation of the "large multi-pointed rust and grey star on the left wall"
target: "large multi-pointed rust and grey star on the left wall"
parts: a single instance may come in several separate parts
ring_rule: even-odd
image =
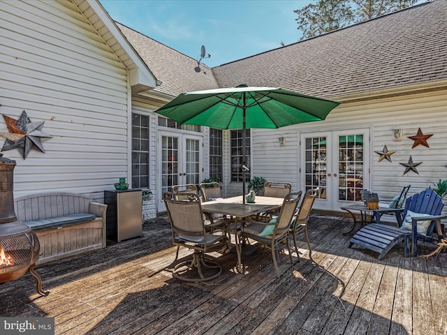
[[[31,122],[25,111],[17,120],[5,114],[3,114],[3,119],[5,119],[8,130],[0,132],[0,136],[6,138],[1,151],[17,149],[23,159],[27,158],[31,149],[45,152],[42,142],[51,138],[50,135],[42,131],[45,121]]]

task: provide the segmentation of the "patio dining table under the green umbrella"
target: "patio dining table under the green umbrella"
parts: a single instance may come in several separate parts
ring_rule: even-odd
[[[234,220],[234,234],[236,241],[236,253],[237,253],[237,270],[242,269],[241,252],[239,248],[239,238],[237,236],[237,221],[247,220],[250,216],[256,214],[272,211],[281,207],[283,203],[283,198],[272,198],[272,197],[262,197],[256,195],[255,202],[246,202],[243,204],[242,196],[232,197],[232,198],[218,198],[216,200],[211,200],[202,203],[202,210],[210,214],[223,214],[230,216]]]

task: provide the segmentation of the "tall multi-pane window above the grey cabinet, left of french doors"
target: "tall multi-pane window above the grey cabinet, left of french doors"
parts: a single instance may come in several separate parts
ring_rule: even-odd
[[[132,188],[149,188],[149,116],[132,113]]]

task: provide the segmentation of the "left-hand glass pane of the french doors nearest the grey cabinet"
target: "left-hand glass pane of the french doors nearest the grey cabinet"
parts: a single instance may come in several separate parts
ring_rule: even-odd
[[[178,182],[178,138],[161,137],[161,191],[169,192]]]

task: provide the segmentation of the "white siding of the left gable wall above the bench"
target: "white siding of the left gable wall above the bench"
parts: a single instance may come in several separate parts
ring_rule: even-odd
[[[127,72],[69,1],[2,1],[0,112],[45,121],[45,154],[17,162],[15,196],[97,193],[127,172]],[[6,128],[1,120],[1,128]]]

